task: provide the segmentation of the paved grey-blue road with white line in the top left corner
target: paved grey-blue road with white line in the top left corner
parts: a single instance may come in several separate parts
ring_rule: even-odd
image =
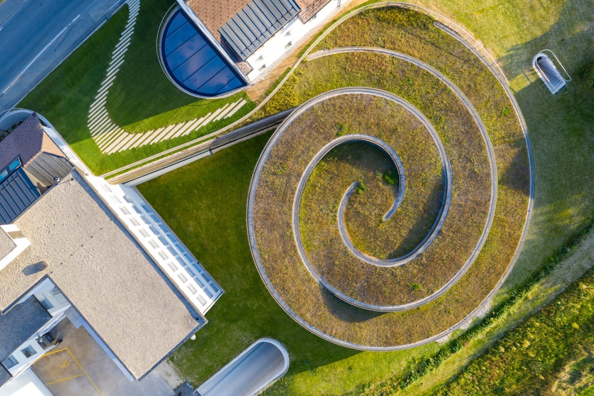
[[[15,106],[122,2],[0,2],[0,111]]]

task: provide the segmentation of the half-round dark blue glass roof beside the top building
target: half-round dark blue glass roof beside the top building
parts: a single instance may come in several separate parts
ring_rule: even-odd
[[[161,53],[169,77],[199,96],[221,96],[247,85],[180,9],[163,29]]]

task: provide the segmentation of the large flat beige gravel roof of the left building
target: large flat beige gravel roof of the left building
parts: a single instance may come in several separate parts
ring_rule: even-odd
[[[77,170],[15,224],[31,246],[0,272],[0,308],[49,275],[137,379],[203,325]]]

